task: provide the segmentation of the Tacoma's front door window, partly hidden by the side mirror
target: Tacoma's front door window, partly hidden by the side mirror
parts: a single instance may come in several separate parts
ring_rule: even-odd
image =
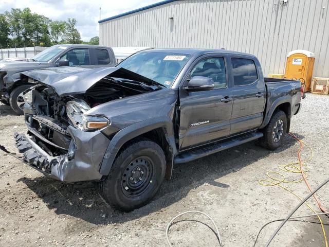
[[[205,58],[200,60],[192,69],[193,76],[205,76],[214,80],[214,89],[226,87],[226,70],[224,58]]]

